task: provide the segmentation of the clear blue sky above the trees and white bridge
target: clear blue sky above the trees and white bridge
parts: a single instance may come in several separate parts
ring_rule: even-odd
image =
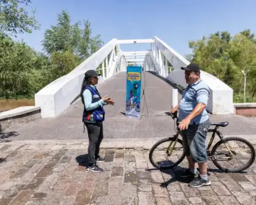
[[[43,33],[56,24],[57,14],[67,10],[72,23],[91,22],[93,34],[100,34],[104,43],[112,38],[152,38],[164,40],[181,55],[191,53],[189,40],[216,31],[232,35],[250,29],[256,33],[255,0],[31,0],[28,9],[36,8],[40,31],[20,34],[28,45],[42,49]],[[125,51],[149,49],[149,44],[121,45]]]

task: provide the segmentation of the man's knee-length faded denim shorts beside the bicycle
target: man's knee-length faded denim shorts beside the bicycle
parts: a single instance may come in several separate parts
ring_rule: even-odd
[[[190,124],[182,133],[186,156],[191,156],[195,163],[207,162],[206,137],[209,126],[208,119],[200,124]]]

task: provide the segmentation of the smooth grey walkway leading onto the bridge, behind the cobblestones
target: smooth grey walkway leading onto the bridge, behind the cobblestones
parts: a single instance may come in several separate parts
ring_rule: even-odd
[[[115,99],[115,106],[105,106],[105,138],[164,138],[175,132],[174,123],[167,115],[171,110],[171,85],[154,73],[142,74],[145,96],[141,99],[141,120],[130,119],[126,112],[126,72],[115,74],[102,82],[98,89],[102,96]],[[145,97],[145,98],[144,98]],[[179,95],[179,99],[181,95]],[[146,103],[145,103],[146,102]],[[87,139],[83,133],[81,115],[83,104],[79,99],[56,118],[41,118],[28,124],[0,132],[0,140],[70,140]],[[256,118],[238,115],[210,115],[211,121],[228,121],[220,128],[224,135],[253,135]]]

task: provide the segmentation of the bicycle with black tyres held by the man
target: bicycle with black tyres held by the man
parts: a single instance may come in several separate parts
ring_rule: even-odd
[[[164,166],[164,163],[160,163],[160,162],[155,162],[153,160],[152,155],[154,153],[157,154],[157,156],[160,156],[161,153],[157,153],[158,150],[164,150],[165,156],[171,156],[171,154],[173,154],[173,152],[175,150],[179,150],[176,145],[181,144],[181,147],[183,148],[183,142],[181,139],[179,139],[179,135],[181,135],[182,137],[182,131],[178,128],[179,123],[178,123],[178,116],[177,116],[177,112],[173,113],[173,115],[171,114],[171,117],[173,118],[173,120],[175,121],[176,119],[176,134],[173,135],[173,137],[167,137],[167,138],[163,138],[162,140],[159,140],[158,142],[156,142],[151,150],[149,151],[149,160],[151,162],[151,164],[156,167],[156,168],[160,168],[160,169],[168,169],[168,168],[173,168],[175,166],[177,166],[178,164],[180,164],[183,159],[185,158],[185,151],[183,149],[183,153],[181,154],[181,157],[174,157],[175,159],[178,159],[176,162],[173,162],[173,164]],[[228,126],[228,122],[221,122],[221,123],[211,123],[211,126],[215,126],[214,129],[209,129],[208,132],[213,132],[213,134],[211,135],[211,138],[209,140],[207,149],[206,149],[206,153],[208,156],[208,160],[211,159],[213,161],[213,164],[216,165],[217,168],[219,168],[220,170],[227,172],[232,172],[232,173],[236,173],[236,172],[241,172],[243,170],[246,170],[247,168],[250,167],[250,165],[252,165],[254,163],[255,160],[255,149],[254,146],[248,142],[246,139],[241,138],[241,137],[224,137],[224,135],[222,135],[222,133],[219,131],[219,127],[226,127]],[[220,140],[214,144],[213,148],[210,150],[211,145],[213,145],[213,140],[215,138],[215,135],[218,135]],[[239,151],[236,151],[235,148],[232,149],[232,147],[230,145],[228,145],[228,142],[233,142],[233,141],[238,141],[238,142],[243,142],[245,145],[247,145],[249,147],[250,150],[250,159],[249,162],[247,162],[247,164],[244,163],[244,160],[242,162],[243,167],[239,167],[236,168],[237,165],[236,164],[228,164],[228,167],[222,167],[222,165],[220,165],[220,161],[219,159],[223,159],[226,160],[228,162],[230,162],[230,160],[232,160],[237,154],[239,154]],[[163,143],[165,142],[170,142],[169,145],[167,146],[167,148],[164,148]],[[173,146],[172,146],[173,145]],[[223,153],[218,153],[217,152],[217,148],[219,148],[221,145],[224,145],[224,148],[227,148],[227,151],[224,151]],[[236,143],[235,143],[236,145]],[[245,155],[248,156],[248,153],[243,153]],[[222,155],[222,157],[220,156]],[[219,157],[220,156],[220,157]],[[244,157],[244,156],[243,156]],[[171,161],[172,162],[172,161]]]

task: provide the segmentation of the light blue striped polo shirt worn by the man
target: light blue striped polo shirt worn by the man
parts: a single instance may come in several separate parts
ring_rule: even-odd
[[[188,85],[183,92],[181,102],[179,103],[179,121],[189,115],[198,103],[207,106],[209,99],[209,87],[201,79],[192,85]],[[206,108],[197,117],[191,120],[190,124],[200,124],[209,119]]]

